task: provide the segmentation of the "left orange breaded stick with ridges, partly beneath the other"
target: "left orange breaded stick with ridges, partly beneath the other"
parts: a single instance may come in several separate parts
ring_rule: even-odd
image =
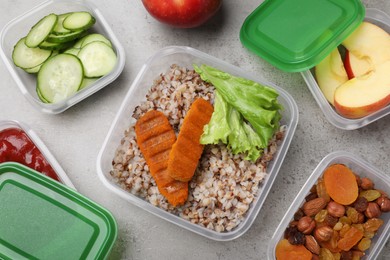
[[[173,206],[184,204],[188,197],[188,182],[174,180],[167,170],[176,135],[166,116],[156,110],[147,112],[135,124],[135,133],[160,193]]]

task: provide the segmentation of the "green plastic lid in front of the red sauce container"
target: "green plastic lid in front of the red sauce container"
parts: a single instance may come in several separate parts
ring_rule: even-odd
[[[109,213],[18,163],[0,164],[0,259],[104,259],[117,236]]]

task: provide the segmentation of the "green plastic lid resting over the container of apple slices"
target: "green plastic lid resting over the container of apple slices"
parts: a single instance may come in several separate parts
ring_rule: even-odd
[[[245,47],[288,72],[314,67],[363,21],[360,0],[266,0],[241,27]]]

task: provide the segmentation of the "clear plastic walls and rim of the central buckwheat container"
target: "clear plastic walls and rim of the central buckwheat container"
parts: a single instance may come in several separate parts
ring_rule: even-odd
[[[161,208],[155,207],[144,199],[139,198],[121,188],[112,180],[110,176],[109,172],[112,169],[112,160],[115,156],[115,151],[124,136],[125,130],[130,126],[130,118],[133,114],[134,108],[139,105],[141,100],[145,99],[145,95],[151,88],[153,80],[158,77],[160,73],[165,73],[171,64],[177,64],[187,68],[192,68],[193,64],[207,64],[232,75],[248,78],[271,86],[275,88],[280,94],[279,102],[281,102],[284,106],[284,110],[282,111],[283,119],[281,124],[287,125],[285,138],[282,144],[279,146],[279,150],[276,156],[268,167],[268,175],[261,184],[261,188],[256,195],[256,199],[251,204],[244,221],[230,232],[218,233],[216,231],[203,228],[200,225],[190,223],[189,221],[180,218],[179,216],[171,214]],[[275,86],[269,82],[265,82],[264,80],[256,78],[253,75],[241,70],[240,68],[232,66],[222,60],[190,47],[167,47],[149,58],[134,80],[99,152],[97,160],[98,175],[101,181],[111,191],[119,195],[121,198],[126,199],[130,203],[141,207],[142,209],[145,209],[169,222],[172,222],[180,227],[191,230],[210,239],[225,241],[232,240],[246,232],[259,213],[265,198],[276,178],[276,175],[278,174],[279,168],[283,163],[283,159],[293,138],[297,122],[297,105],[292,97],[280,87]]]

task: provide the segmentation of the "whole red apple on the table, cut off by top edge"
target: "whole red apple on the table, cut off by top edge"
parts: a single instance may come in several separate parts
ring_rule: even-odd
[[[210,19],[222,0],[142,0],[158,21],[180,28],[197,27]]]

